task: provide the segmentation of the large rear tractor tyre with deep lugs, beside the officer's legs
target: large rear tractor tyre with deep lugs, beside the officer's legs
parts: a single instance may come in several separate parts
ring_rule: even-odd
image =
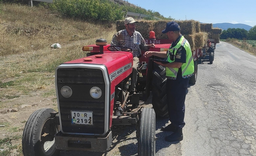
[[[168,117],[165,67],[153,63],[152,105],[159,117]]]

